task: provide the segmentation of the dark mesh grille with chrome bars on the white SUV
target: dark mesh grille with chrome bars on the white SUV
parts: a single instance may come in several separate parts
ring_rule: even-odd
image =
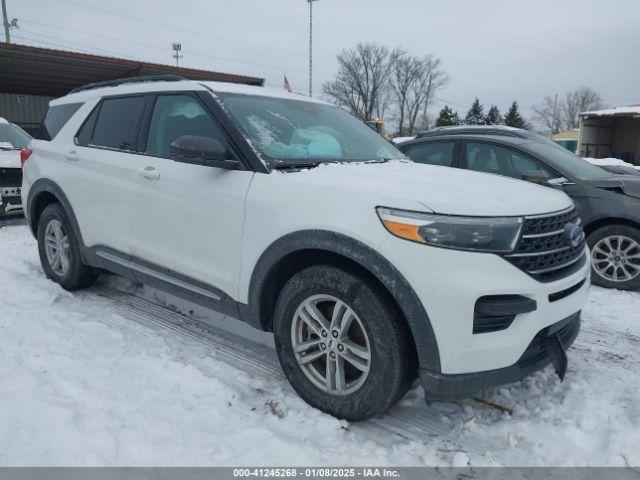
[[[564,212],[525,217],[522,238],[505,258],[539,280],[553,279],[579,267],[584,261],[584,238],[572,246],[565,227],[580,224],[575,208]]]

